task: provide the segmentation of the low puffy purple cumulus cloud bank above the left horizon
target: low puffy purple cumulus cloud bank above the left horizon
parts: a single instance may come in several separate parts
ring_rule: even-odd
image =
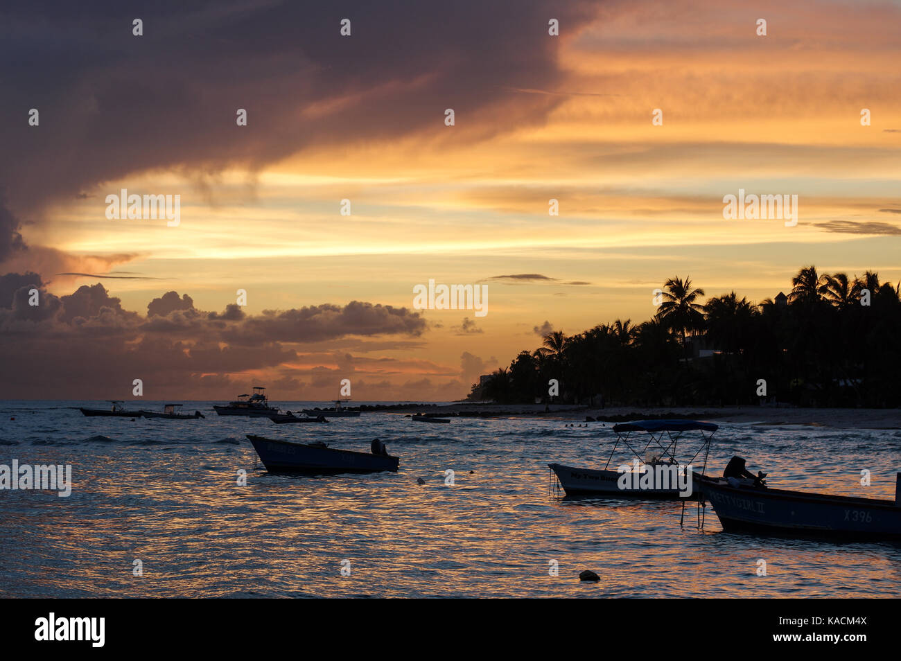
[[[145,316],[124,309],[100,283],[57,296],[38,274],[11,273],[0,276],[0,364],[16,378],[0,384],[0,393],[123,399],[141,378],[148,399],[222,397],[233,394],[232,385],[246,388],[241,373],[278,369],[287,370],[278,378],[300,387],[298,377],[310,371],[291,374],[291,366],[305,347],[369,338],[390,349],[426,329],[419,312],[390,305],[324,303],[249,315],[233,304],[197,310],[191,296],[177,292],[151,300]],[[332,362],[341,374],[354,369],[347,352],[333,353]]]

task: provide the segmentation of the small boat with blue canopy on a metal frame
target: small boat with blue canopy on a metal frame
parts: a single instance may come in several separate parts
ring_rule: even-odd
[[[610,451],[610,457],[604,468],[580,468],[576,466],[564,466],[563,464],[548,464],[557,475],[560,486],[567,495],[595,495],[609,496],[611,498],[641,498],[662,500],[697,500],[700,497],[700,488],[696,478],[701,475],[692,471],[691,493],[682,495],[678,488],[679,465],[675,457],[678,439],[683,431],[701,432],[701,447],[696,452],[696,457],[706,457],[710,448],[710,440],[714,431],[718,428],[713,422],[701,422],[694,420],[643,420],[623,422],[614,425],[616,443]],[[633,431],[647,432],[647,443],[639,440],[638,448],[633,448],[635,441],[630,439]],[[709,434],[705,435],[705,431]],[[673,433],[675,432],[675,436]],[[666,437],[664,437],[666,435]],[[630,442],[631,441],[631,442]],[[626,474],[625,488],[621,488],[623,473],[618,470],[609,470],[610,461],[620,443],[629,448],[633,454],[633,460],[626,464],[632,470]],[[643,448],[642,448],[643,446]],[[702,450],[704,451],[702,453]],[[643,455],[643,456],[642,456]],[[638,465],[638,471],[634,470]],[[618,467],[618,466],[617,466]],[[642,474],[646,472],[648,477],[643,481]],[[703,472],[703,470],[702,470]],[[684,475],[684,471],[683,471]],[[687,482],[687,479],[683,477]]]

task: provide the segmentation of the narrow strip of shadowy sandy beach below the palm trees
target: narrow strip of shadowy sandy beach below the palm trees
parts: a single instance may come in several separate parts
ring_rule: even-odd
[[[637,407],[551,404],[545,412],[544,404],[453,403],[392,407],[391,412],[426,413],[445,416],[534,416],[560,418],[567,421],[641,420],[642,418],[673,417],[759,425],[808,425],[837,429],[901,429],[901,409],[814,409],[774,406],[693,406],[693,407]]]

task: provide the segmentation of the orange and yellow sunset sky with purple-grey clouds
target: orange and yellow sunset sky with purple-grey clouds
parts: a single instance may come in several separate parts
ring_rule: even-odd
[[[44,294],[0,282],[3,396],[140,377],[154,400],[325,400],[350,378],[446,401],[545,322],[650,318],[671,276],[755,302],[809,264],[897,282],[901,3],[746,5],[4,10],[0,276]],[[123,188],[180,195],[180,224],[107,220]],[[740,188],[798,195],[796,227],[724,220]],[[487,284],[487,316],[414,310],[430,278]],[[148,316],[170,291],[192,303]]]

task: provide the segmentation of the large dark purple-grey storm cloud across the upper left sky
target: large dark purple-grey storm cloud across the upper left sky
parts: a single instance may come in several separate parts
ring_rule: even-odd
[[[448,139],[440,132],[448,107],[457,113],[454,140],[542,122],[563,97],[501,87],[552,89],[563,37],[548,36],[548,19],[571,35],[593,11],[578,0],[5,8],[0,186],[9,204],[0,206],[0,259],[22,249],[23,213],[131,173],[177,168],[202,180],[313,143],[346,147],[427,130]],[[350,37],[339,33],[345,17]],[[37,127],[27,122],[31,108]],[[247,127],[235,125],[238,108],[248,111]]]

